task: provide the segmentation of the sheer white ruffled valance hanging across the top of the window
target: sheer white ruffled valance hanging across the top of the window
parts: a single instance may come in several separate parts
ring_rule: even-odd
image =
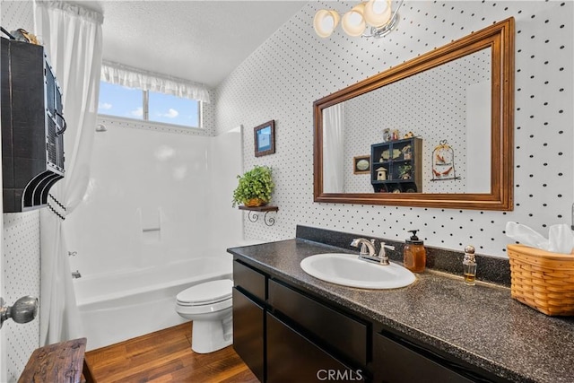
[[[209,91],[203,84],[147,72],[110,61],[104,61],[101,65],[101,80],[128,88],[157,91],[186,99],[209,102]]]

